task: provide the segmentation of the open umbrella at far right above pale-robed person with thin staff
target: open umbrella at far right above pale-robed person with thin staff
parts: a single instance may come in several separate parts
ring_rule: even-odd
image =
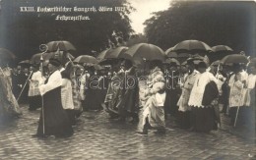
[[[249,62],[248,58],[244,55],[240,55],[240,54],[231,54],[231,55],[227,55],[225,56],[222,61],[223,64],[239,64],[239,63],[243,63],[243,64],[247,64]]]

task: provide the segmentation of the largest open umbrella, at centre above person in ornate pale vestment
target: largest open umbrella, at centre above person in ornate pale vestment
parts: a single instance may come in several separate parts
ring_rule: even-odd
[[[143,61],[165,60],[164,52],[154,44],[139,43],[130,47],[121,58],[133,61],[135,64],[140,64]]]

